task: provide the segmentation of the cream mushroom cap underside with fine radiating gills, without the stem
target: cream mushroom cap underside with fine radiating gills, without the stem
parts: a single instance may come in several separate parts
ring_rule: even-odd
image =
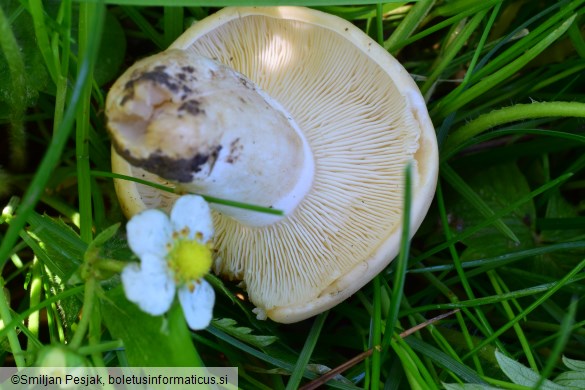
[[[313,152],[313,185],[286,218],[253,227],[214,212],[215,271],[242,280],[258,316],[282,323],[335,306],[381,272],[399,249],[406,164],[413,234],[438,175],[434,128],[402,65],[351,23],[300,7],[224,8],[171,48],[258,84],[291,113]],[[164,181],[115,152],[113,170]],[[132,182],[116,188],[127,215],[173,201]]]

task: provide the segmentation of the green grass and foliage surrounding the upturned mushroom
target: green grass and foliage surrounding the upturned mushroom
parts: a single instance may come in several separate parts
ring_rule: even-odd
[[[107,3],[0,3],[4,365],[67,345],[97,366],[237,366],[242,388],[310,386],[336,367],[327,385],[342,389],[581,387],[585,0],[296,1],[349,19],[418,81],[441,148],[434,203],[399,258],[329,312],[258,321],[210,276],[230,320],[192,333],[174,310],[170,335],[115,277],[132,254],[105,95],[212,3],[274,2]]]

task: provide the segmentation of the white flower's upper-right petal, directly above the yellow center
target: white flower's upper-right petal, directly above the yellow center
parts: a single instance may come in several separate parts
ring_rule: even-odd
[[[171,211],[171,223],[176,232],[189,228],[190,239],[195,237],[195,233],[203,235],[202,242],[213,237],[211,210],[207,202],[198,195],[184,195],[175,202]]]

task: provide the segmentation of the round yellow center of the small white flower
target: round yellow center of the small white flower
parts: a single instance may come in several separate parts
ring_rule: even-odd
[[[196,282],[211,269],[211,243],[178,238],[169,252],[168,261],[178,284]]]

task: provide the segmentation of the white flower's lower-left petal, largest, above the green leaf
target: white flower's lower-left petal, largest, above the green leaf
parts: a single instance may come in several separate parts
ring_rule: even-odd
[[[143,256],[143,266],[127,265],[122,271],[122,284],[129,301],[154,316],[166,313],[175,297],[175,282],[164,262],[152,255]]]

